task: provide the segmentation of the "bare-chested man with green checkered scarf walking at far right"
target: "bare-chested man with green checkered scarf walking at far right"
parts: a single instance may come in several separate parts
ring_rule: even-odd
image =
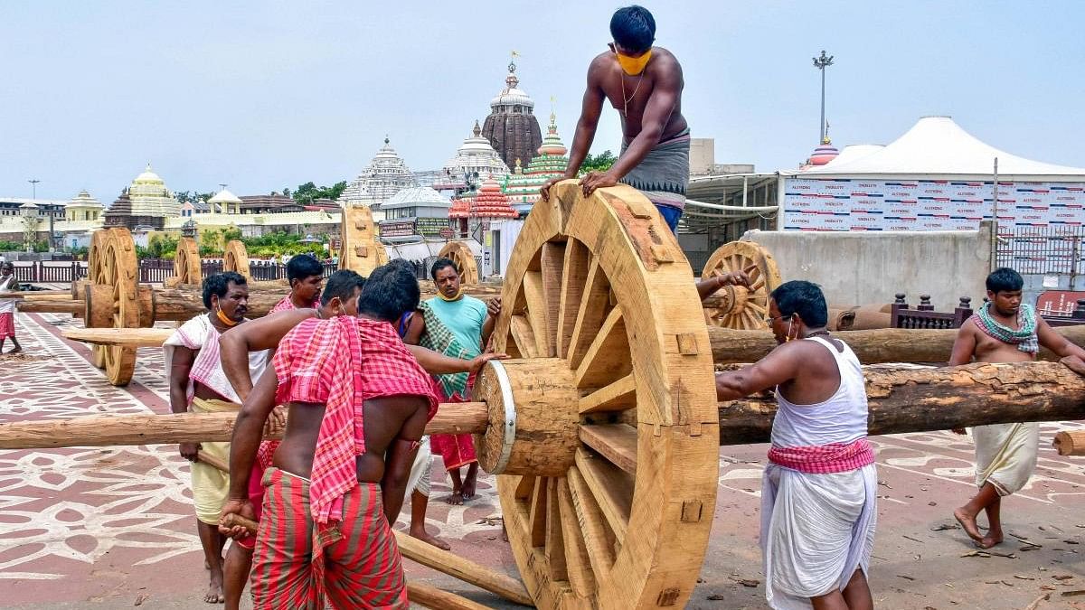
[[[1047,347],[1071,370],[1085,374],[1085,350],[1055,332],[1032,305],[1021,303],[1024,279],[1001,267],[987,276],[987,302],[965,321],[954,342],[949,365],[1027,363]],[[963,429],[954,430],[963,434]],[[975,441],[975,485],[980,493],[954,510],[954,517],[972,542],[991,548],[1003,542],[1001,497],[1016,493],[1032,476],[1039,447],[1039,424],[996,423],[972,428]],[[975,518],[987,513],[987,535]]]

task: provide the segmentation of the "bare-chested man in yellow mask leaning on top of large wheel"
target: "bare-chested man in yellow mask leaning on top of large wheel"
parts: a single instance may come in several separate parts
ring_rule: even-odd
[[[544,200],[559,180],[575,178],[596,137],[603,100],[622,119],[622,154],[607,171],[580,180],[584,194],[618,182],[639,189],[674,231],[689,185],[689,125],[681,115],[681,65],[655,41],[655,20],[643,7],[618,9],[611,17],[610,51],[588,66],[580,119],[565,175],[542,186]]]

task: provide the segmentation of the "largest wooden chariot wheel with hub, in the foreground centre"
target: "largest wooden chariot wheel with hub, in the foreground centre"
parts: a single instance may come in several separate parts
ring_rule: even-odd
[[[509,541],[540,608],[682,607],[707,546],[718,412],[693,275],[654,206],[575,181],[537,202],[475,384]]]

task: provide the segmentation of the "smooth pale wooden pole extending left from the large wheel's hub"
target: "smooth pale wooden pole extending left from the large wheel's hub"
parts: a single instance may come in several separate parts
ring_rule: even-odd
[[[112,447],[229,441],[235,412],[169,415],[91,415],[69,419],[0,423],[0,449]],[[445,403],[426,424],[427,434],[483,432],[489,421],[485,403]],[[267,439],[279,439],[270,435]]]

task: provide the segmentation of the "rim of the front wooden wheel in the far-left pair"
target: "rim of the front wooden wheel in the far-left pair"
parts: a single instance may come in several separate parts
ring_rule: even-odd
[[[105,283],[113,287],[114,328],[140,328],[139,301],[137,297],[136,244],[128,229],[111,229],[112,234],[105,243],[103,276]],[[124,345],[111,345],[104,351],[105,371],[113,385],[126,385],[132,378],[136,368],[136,348]]]

